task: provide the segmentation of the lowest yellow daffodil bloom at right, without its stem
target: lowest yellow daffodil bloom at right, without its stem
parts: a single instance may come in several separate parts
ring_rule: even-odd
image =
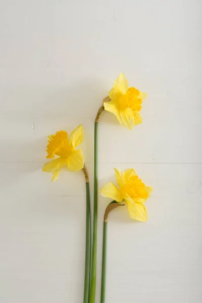
[[[130,217],[138,221],[146,221],[148,215],[144,202],[150,196],[153,187],[145,186],[132,168],[123,172],[115,168],[115,176],[119,188],[109,182],[100,189],[100,194],[117,202],[126,201]]]

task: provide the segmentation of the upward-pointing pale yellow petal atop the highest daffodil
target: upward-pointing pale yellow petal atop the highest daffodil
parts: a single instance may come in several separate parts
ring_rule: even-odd
[[[117,80],[115,80],[113,88],[109,92],[109,97],[112,100],[119,99],[122,94],[126,94],[128,90],[128,80],[126,76],[121,73]]]

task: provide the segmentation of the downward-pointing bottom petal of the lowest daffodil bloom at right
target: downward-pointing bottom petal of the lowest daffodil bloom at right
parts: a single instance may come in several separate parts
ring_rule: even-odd
[[[125,197],[127,206],[128,206],[128,211],[130,214],[130,217],[132,219],[138,220],[138,221],[146,221],[148,219],[148,214],[146,211],[146,208],[143,204],[141,203],[135,203],[133,199],[131,199],[129,196]]]

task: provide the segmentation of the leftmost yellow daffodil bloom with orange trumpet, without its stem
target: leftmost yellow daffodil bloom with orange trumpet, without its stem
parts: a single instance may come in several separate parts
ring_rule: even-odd
[[[46,158],[53,159],[55,155],[59,156],[59,158],[46,163],[42,168],[43,172],[53,173],[52,182],[58,179],[59,172],[64,166],[73,172],[77,172],[83,168],[84,155],[82,150],[75,150],[83,141],[82,125],[73,130],[69,139],[68,133],[65,130],[60,130],[55,135],[49,135],[47,140]]]

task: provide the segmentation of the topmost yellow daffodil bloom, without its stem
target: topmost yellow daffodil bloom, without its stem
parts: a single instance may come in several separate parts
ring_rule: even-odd
[[[122,126],[132,130],[134,125],[142,122],[139,111],[146,93],[128,87],[128,80],[123,73],[115,80],[109,97],[111,101],[104,102],[105,110],[113,113]]]

